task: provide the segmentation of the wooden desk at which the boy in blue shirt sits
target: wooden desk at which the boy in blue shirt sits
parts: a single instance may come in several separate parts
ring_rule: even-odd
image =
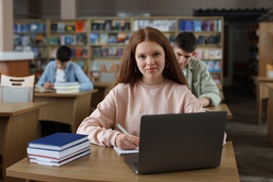
[[[50,106],[41,109],[39,120],[50,120],[71,125],[76,133],[83,119],[90,116],[92,94],[97,89],[73,94],[57,94],[53,92],[35,92],[36,102],[49,102]]]

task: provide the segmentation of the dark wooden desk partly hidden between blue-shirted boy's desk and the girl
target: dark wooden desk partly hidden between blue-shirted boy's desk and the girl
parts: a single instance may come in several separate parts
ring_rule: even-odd
[[[106,97],[106,95],[109,93],[112,83],[94,81],[93,85],[94,85],[94,88],[98,90],[98,92],[94,94],[94,98],[92,99],[92,102],[91,102],[91,107],[95,109],[97,108],[97,104],[99,104],[99,102],[102,102],[104,97]]]

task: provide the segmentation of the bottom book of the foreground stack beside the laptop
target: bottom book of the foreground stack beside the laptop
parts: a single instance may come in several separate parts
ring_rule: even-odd
[[[38,165],[48,165],[48,166],[53,166],[53,167],[61,167],[62,165],[65,165],[73,160],[76,160],[78,158],[82,158],[85,155],[90,154],[90,149],[88,148],[87,151],[84,151],[82,153],[78,153],[76,155],[72,155],[69,158],[66,158],[64,160],[59,160],[59,161],[54,161],[54,160],[47,160],[46,158],[40,159],[40,158],[28,158],[28,161],[31,163],[36,163]]]

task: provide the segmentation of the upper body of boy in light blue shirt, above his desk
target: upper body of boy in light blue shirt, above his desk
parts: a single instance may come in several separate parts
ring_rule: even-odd
[[[71,62],[71,49],[61,45],[57,49],[55,62],[49,62],[45,71],[38,80],[37,85],[44,88],[54,88],[54,83],[78,82],[80,91],[92,90],[94,88],[90,78],[86,76],[83,69],[75,62]]]

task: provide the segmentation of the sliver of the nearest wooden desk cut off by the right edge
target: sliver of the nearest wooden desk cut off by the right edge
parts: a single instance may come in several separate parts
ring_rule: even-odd
[[[273,84],[266,84],[269,88],[269,99],[268,99],[268,115],[267,115],[267,127],[268,127],[268,139],[269,143],[273,144]]]

